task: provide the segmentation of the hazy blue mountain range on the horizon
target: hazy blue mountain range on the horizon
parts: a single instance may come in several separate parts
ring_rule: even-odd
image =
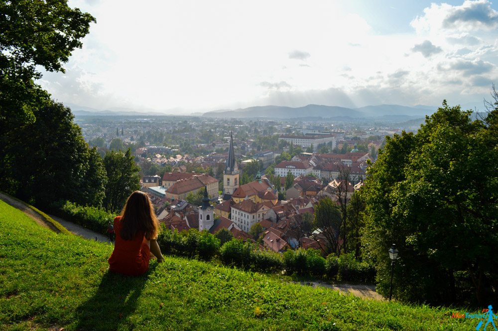
[[[302,117],[382,117],[382,116],[417,116],[424,117],[426,114],[432,114],[435,109],[430,108],[414,108],[399,105],[379,105],[366,106],[357,109],[323,106],[323,105],[308,105],[305,107],[283,107],[283,106],[257,106],[237,110],[214,110],[208,111],[203,116],[208,117],[232,117],[232,118],[247,118],[247,117],[269,117],[269,118],[302,118]],[[407,119],[406,117],[404,119]]]

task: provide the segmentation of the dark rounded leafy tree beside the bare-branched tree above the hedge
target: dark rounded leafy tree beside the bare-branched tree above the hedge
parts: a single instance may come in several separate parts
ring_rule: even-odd
[[[316,228],[326,239],[326,243],[322,244],[317,241],[326,253],[340,253],[340,237],[339,228],[341,225],[341,212],[337,205],[330,200],[324,198],[315,206],[315,221],[313,227]]]

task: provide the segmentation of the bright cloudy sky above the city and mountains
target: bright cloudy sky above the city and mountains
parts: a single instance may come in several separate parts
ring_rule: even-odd
[[[498,84],[488,0],[69,0],[92,14],[65,73],[73,110],[188,114],[308,104],[476,107]],[[77,105],[77,106],[75,106]]]

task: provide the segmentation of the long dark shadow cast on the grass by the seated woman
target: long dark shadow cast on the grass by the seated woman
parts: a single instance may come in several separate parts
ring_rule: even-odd
[[[110,272],[102,277],[97,292],[76,310],[76,330],[133,330],[135,327],[128,316],[136,309],[149,273],[156,264],[138,277],[124,276]]]

